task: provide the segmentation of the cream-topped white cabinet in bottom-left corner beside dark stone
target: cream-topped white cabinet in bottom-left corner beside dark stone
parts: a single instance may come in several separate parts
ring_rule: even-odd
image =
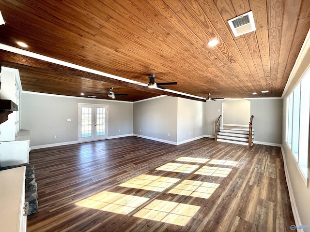
[[[25,166],[0,171],[1,231],[26,232],[25,172]]]

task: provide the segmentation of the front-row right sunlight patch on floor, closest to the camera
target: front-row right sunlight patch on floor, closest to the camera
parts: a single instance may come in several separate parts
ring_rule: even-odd
[[[154,200],[133,216],[185,226],[199,209],[196,205]]]

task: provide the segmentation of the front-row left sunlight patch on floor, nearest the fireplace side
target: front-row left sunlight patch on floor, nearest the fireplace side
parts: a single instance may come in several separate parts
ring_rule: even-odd
[[[76,205],[127,215],[148,200],[149,198],[146,197],[102,191],[87,199],[79,201]]]

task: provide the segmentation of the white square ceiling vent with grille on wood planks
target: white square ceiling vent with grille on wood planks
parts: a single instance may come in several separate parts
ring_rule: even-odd
[[[228,24],[235,37],[256,30],[252,11],[228,20]]]

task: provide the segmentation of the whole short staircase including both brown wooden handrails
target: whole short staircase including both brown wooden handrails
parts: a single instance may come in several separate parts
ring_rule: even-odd
[[[215,121],[215,141],[232,143],[232,144],[241,144],[241,145],[253,145],[253,136],[254,131],[252,130],[252,121],[254,116],[250,117],[250,122],[248,128],[229,128],[229,129],[220,129],[220,119],[221,115]]]

